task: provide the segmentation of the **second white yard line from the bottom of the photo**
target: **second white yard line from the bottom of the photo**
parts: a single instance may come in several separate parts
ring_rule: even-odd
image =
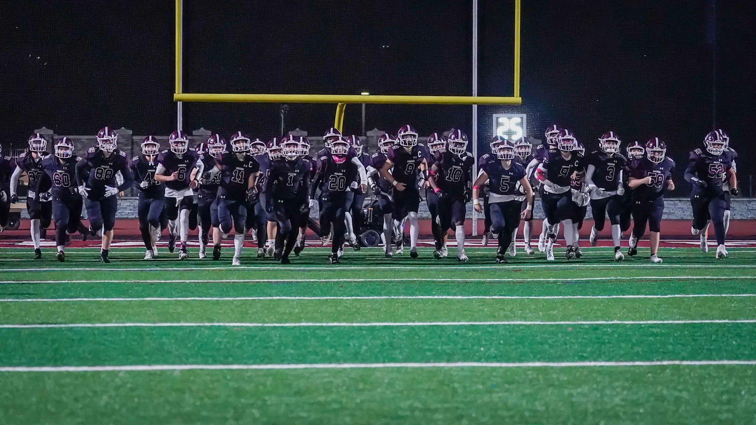
[[[0,325],[0,329],[27,328],[376,328],[382,326],[550,326],[550,325],[702,325],[723,323],[756,323],[756,319],[701,319],[701,320],[586,320],[586,321],[523,321],[498,322],[291,322],[291,323],[40,323],[30,325]]]

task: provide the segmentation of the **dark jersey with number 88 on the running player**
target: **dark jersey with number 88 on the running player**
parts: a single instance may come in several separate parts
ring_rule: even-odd
[[[121,173],[123,183],[119,186],[116,174]],[[132,186],[132,172],[129,168],[129,159],[126,153],[116,149],[105,156],[104,152],[96,147],[87,149],[86,156],[76,165],[76,180],[79,184],[85,184],[90,190],[89,199],[99,199],[105,194],[105,186],[118,186],[119,190],[125,190]]]

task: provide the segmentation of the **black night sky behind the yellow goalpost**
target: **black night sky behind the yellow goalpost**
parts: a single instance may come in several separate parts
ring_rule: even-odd
[[[679,146],[680,162],[716,125],[748,156],[756,112],[752,3],[523,0],[524,105],[482,108],[482,135],[491,131],[490,112],[525,110],[531,136],[551,122],[589,146],[610,128],[626,140],[659,135]],[[42,125],[57,134],[94,134],[104,125],[172,131],[172,2],[9,6],[0,18],[5,143],[23,143]],[[437,0],[184,0],[184,91],[469,94],[471,8]],[[480,0],[479,11],[479,94],[510,95],[513,5]],[[333,109],[291,105],[287,127],[320,134]],[[359,131],[359,115],[357,106],[347,109],[347,131]],[[367,107],[368,128],[411,122],[427,134],[469,130],[469,120],[468,106]],[[184,121],[188,130],[238,127],[259,136],[280,125],[278,105],[259,104],[187,104]],[[748,158],[741,173],[754,164]]]

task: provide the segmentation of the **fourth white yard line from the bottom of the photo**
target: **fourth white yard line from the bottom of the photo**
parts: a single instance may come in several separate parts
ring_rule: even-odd
[[[390,279],[198,279],[198,280],[161,280],[160,282],[149,282],[147,280],[0,280],[0,284],[32,284],[32,283],[148,283],[155,285],[157,283],[330,283],[330,282],[585,282],[596,280],[695,280],[695,279],[756,279],[756,276],[607,276],[601,278],[497,278],[497,279],[480,279],[480,278],[390,278]]]

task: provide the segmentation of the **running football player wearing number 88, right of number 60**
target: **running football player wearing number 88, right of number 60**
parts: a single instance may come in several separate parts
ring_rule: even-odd
[[[116,224],[116,195],[132,186],[133,178],[129,159],[126,152],[118,149],[118,134],[112,128],[101,128],[97,143],[98,146],[87,149],[85,158],[76,163],[76,180],[79,195],[85,199],[89,229],[102,236],[100,259],[103,263],[110,263],[107,255]],[[123,177],[120,184],[116,180],[119,173]]]

